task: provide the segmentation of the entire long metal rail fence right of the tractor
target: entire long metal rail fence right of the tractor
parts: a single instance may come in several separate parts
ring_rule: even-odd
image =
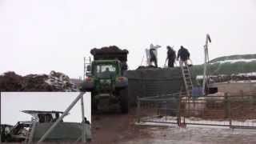
[[[188,98],[185,93],[138,98],[138,122],[256,129],[256,94]]]

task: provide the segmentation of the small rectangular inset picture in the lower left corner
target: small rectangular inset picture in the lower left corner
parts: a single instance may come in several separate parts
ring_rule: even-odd
[[[90,93],[2,92],[1,142],[90,142],[90,107]]]

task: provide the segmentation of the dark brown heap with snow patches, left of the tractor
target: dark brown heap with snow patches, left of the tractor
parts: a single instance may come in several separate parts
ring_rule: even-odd
[[[51,71],[47,74],[28,74],[24,77],[14,72],[0,75],[1,91],[78,91],[70,78],[62,73]]]

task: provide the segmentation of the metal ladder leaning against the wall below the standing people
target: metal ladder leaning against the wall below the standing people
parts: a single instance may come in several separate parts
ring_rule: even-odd
[[[183,63],[185,64],[185,66],[183,66]],[[187,65],[186,62],[180,62],[179,64],[182,69],[182,78],[186,89],[186,95],[188,98],[191,98],[193,83],[191,79],[190,67]]]

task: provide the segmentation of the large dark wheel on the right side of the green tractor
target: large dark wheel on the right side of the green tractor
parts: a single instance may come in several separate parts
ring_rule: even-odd
[[[129,102],[128,102],[128,89],[127,87],[120,90],[120,105],[122,114],[127,114],[129,109]]]

